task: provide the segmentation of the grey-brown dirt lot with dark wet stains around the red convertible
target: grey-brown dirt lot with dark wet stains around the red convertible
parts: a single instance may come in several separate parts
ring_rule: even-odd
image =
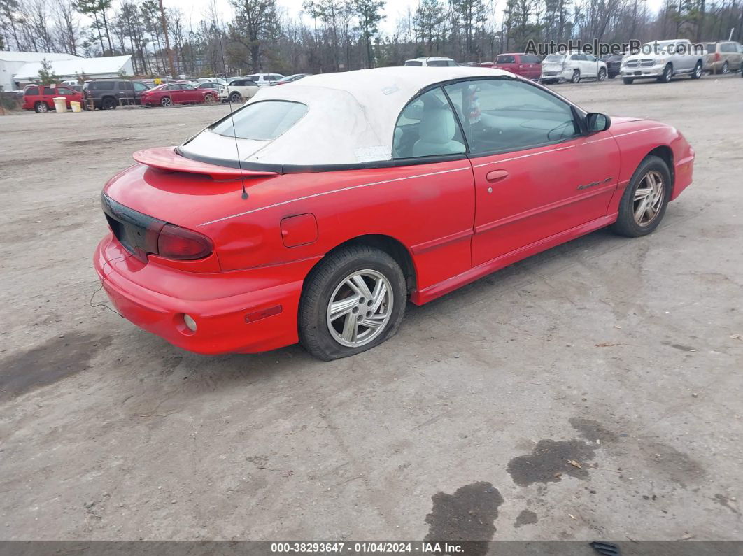
[[[743,540],[743,79],[555,88],[684,132],[661,228],[331,363],[192,355],[97,292],[103,183],[224,106],[0,117],[0,539]]]

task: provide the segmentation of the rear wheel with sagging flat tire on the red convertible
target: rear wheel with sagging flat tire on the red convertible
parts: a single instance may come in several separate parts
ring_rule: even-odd
[[[377,293],[376,298],[363,295],[359,279],[367,294]],[[331,304],[348,300],[348,307],[340,307],[343,313],[331,318]],[[405,277],[395,259],[370,246],[344,247],[328,255],[305,280],[299,301],[299,341],[323,361],[362,353],[395,335],[406,301]],[[369,323],[376,324],[382,315],[379,327],[363,324],[369,317]]]

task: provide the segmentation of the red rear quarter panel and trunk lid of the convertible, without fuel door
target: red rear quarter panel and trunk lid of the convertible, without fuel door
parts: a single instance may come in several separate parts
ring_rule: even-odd
[[[222,270],[320,258],[361,235],[386,235],[412,255],[418,287],[471,266],[474,181],[468,160],[386,169],[212,180],[141,164],[104,191],[125,206],[212,238]],[[280,223],[314,215],[317,241],[287,247]]]

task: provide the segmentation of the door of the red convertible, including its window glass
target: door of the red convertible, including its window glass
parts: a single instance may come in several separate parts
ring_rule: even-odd
[[[609,131],[582,134],[568,102],[527,82],[446,89],[475,176],[473,266],[606,215],[620,166]]]

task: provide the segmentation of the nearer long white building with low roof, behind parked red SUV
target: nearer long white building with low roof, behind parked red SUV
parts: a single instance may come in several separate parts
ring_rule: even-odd
[[[107,77],[118,77],[120,75],[132,75],[132,56],[108,56],[106,58],[75,58],[67,60],[49,60],[51,71],[59,76],[59,81],[77,79],[78,76],[86,76],[90,79],[106,79]],[[15,88],[23,88],[28,83],[39,79],[39,70],[42,62],[27,62],[22,65],[16,73],[13,73]]]

